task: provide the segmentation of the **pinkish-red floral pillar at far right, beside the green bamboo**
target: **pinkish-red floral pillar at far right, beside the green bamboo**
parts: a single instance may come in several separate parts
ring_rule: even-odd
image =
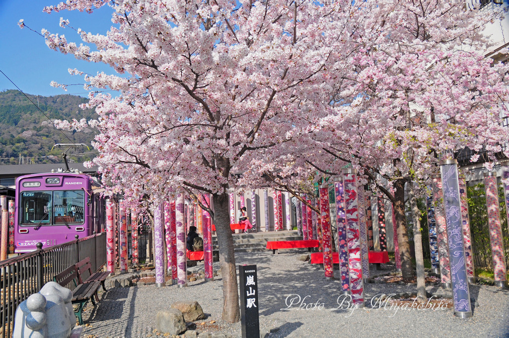
[[[496,175],[496,172],[484,173],[486,208],[488,209],[488,226],[490,228],[491,255],[493,258],[495,286],[499,288],[507,288],[507,271],[505,269],[504,244],[502,242],[502,227],[500,224],[498,184]]]

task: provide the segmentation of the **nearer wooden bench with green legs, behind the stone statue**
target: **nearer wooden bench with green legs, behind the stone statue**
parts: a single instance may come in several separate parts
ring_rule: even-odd
[[[93,281],[92,283],[79,283],[79,275],[78,269],[76,265],[72,265],[62,271],[61,273],[55,275],[53,280],[60,284],[61,286],[67,288],[67,286],[71,283],[74,284],[74,290],[72,291],[72,303],[78,304],[78,308],[74,311],[76,317],[78,317],[78,321],[80,325],[83,325],[83,319],[81,318],[81,313],[83,308],[87,304],[89,300],[92,301],[94,306],[96,305],[95,300],[99,301],[99,296],[97,295],[97,290],[101,287],[100,281]],[[94,300],[95,298],[95,300]]]

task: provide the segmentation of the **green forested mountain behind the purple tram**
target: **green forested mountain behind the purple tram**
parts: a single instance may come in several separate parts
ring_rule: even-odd
[[[67,148],[51,150],[57,143],[89,146],[90,150],[86,147],[71,149],[69,162],[83,162],[95,156],[90,143],[97,130],[61,131],[51,122],[96,118],[94,109],[79,107],[88,99],[73,95],[27,96],[35,104],[19,91],[0,92],[0,164],[61,163],[62,153]]]

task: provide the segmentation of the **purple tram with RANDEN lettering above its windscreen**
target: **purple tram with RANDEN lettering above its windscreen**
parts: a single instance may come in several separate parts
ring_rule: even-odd
[[[58,172],[16,179],[14,252],[29,252],[104,231],[105,204],[97,179]]]

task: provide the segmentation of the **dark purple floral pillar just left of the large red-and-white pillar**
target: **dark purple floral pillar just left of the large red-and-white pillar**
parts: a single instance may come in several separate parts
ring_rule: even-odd
[[[334,183],[336,197],[336,228],[337,228],[337,252],[340,258],[341,291],[350,293],[350,273],[348,269],[348,242],[345,220],[345,198],[343,196],[343,182]]]

